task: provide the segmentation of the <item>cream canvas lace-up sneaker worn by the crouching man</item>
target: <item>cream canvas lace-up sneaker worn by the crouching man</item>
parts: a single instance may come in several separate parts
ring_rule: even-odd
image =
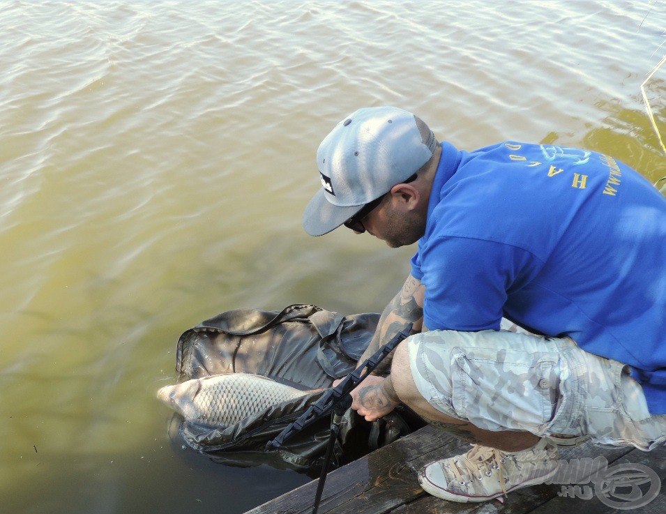
[[[487,501],[547,481],[557,473],[557,464],[557,446],[547,439],[511,453],[474,444],[465,455],[426,464],[418,481],[438,498]]]

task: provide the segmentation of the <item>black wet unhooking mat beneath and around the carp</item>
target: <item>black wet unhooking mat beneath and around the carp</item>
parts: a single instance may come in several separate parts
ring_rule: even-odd
[[[255,373],[310,390],[328,388],[353,371],[370,343],[378,314],[343,316],[315,305],[289,305],[280,312],[229,310],[190,328],[178,340],[176,372],[181,381],[226,373]],[[296,420],[324,391],[273,405],[226,428],[203,427],[174,417],[177,433],[213,460],[235,465],[272,464],[300,471],[321,467],[331,418],[289,439],[278,450],[266,443]],[[372,423],[347,411],[333,465],[384,446],[425,423],[406,407]]]

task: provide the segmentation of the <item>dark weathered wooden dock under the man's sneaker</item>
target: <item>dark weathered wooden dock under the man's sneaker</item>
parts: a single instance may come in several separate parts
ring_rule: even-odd
[[[432,460],[465,453],[469,445],[455,437],[426,426],[413,434],[380,448],[364,458],[335,469],[326,479],[319,513],[325,514],[431,514],[431,513],[506,513],[506,514],[593,514],[593,513],[666,513],[666,446],[655,451],[643,452],[631,448],[605,450],[590,443],[577,448],[561,449],[559,458],[596,458],[603,456],[608,461],[608,473],[618,464],[630,464],[627,469],[617,468],[616,479],[640,474],[642,464],[653,470],[640,485],[626,484],[614,490],[613,501],[619,494],[634,492],[639,497],[649,497],[651,487],[661,487],[658,495],[644,506],[620,508],[607,506],[593,493],[592,483],[580,485],[534,485],[510,492],[504,501],[492,500],[484,503],[460,504],[432,497],[418,485],[416,474],[423,464]],[[631,465],[633,464],[633,466]],[[637,468],[637,469],[633,469]],[[643,468],[644,469],[644,468]],[[616,482],[616,485],[619,483]],[[315,498],[317,481],[307,483],[281,497],[268,501],[245,514],[310,514]],[[656,491],[652,489],[652,491]],[[586,499],[586,497],[590,497]]]

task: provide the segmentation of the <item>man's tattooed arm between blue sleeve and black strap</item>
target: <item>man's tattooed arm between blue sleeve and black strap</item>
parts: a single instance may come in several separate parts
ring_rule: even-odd
[[[409,275],[404,281],[402,289],[395,295],[391,303],[386,305],[384,312],[381,313],[377,330],[372,336],[370,345],[363,352],[363,356],[358,361],[361,364],[366,358],[369,358],[377,352],[379,348],[390,341],[397,333],[413,323],[413,333],[421,332],[423,329],[423,297],[425,296],[425,286],[421,285],[421,280]],[[374,375],[382,375],[391,366],[391,355],[384,359],[375,370]]]

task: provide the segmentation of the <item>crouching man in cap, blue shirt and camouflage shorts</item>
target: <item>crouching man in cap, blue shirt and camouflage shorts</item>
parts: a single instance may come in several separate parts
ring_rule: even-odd
[[[543,483],[557,446],[586,438],[665,443],[666,199],[637,172],[553,145],[458,151],[395,107],[345,117],[317,166],[306,232],[418,241],[361,361],[409,323],[415,335],[351,407],[371,421],[402,402],[474,443],[421,470],[427,492],[485,501]]]

